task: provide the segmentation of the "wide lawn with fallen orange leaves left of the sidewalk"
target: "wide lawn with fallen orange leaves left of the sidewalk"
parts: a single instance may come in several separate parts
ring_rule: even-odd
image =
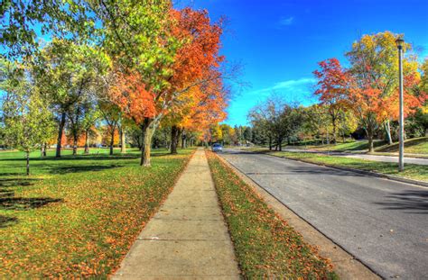
[[[33,153],[31,176],[24,176],[22,153],[0,153],[2,277],[107,278],[170,192],[192,149],[174,156],[154,151],[150,168],[139,166],[138,151],[111,157],[100,151],[60,159]]]

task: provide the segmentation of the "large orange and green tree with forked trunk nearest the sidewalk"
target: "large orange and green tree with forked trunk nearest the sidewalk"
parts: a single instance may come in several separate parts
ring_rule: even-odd
[[[224,104],[221,73],[218,69],[219,63],[223,60],[219,56],[222,30],[219,23],[210,23],[206,11],[194,11],[191,8],[178,11],[168,4],[159,5],[159,7],[153,4],[135,7],[127,5],[129,4],[125,2],[118,6],[119,14],[122,8],[125,10],[132,8],[133,11],[129,11],[130,14],[125,20],[111,18],[111,15],[108,15],[112,24],[124,25],[124,29],[118,31],[117,26],[109,25],[107,39],[115,41],[112,43],[112,50],[116,50],[114,46],[119,45],[116,44],[119,41],[122,45],[120,53],[125,56],[128,55],[127,49],[137,51],[127,59],[143,60],[138,60],[135,64],[121,64],[120,58],[117,60],[118,76],[124,78],[117,80],[110,94],[112,101],[126,116],[140,126],[144,135],[141,165],[150,166],[152,136],[165,115],[178,113],[180,116],[181,113],[181,117],[174,114],[172,120],[184,122],[185,119],[191,120],[189,113],[186,117],[186,112],[191,112],[194,106],[200,107],[201,103],[215,104],[208,101],[215,100],[216,97],[220,97],[217,100],[218,104]],[[107,5],[102,9],[107,9]],[[133,21],[136,20],[133,16],[138,15],[138,21],[141,21],[142,14],[138,13],[147,15],[147,19],[139,23],[136,28],[131,28]],[[149,20],[147,22],[150,24],[149,29],[144,29],[146,20]],[[142,48],[134,48],[134,44],[128,45],[130,42],[127,40],[134,39],[127,39],[125,36],[126,41],[123,41],[125,38],[120,35],[122,32],[126,32],[124,36],[130,38],[135,36],[137,39],[144,40]],[[149,52],[155,50],[154,56],[147,54],[147,50]],[[218,88],[210,89],[215,86]],[[195,89],[195,87],[198,88]],[[220,94],[212,95],[216,92]],[[202,94],[202,98],[198,97],[198,94]],[[182,104],[185,105],[182,106]],[[225,105],[217,107],[222,111]],[[216,106],[210,106],[210,108],[216,108]],[[224,113],[220,112],[223,116],[217,116],[219,110],[214,111],[215,113],[210,116],[214,115],[219,120],[224,119]],[[207,110],[200,110],[200,112],[205,113]]]

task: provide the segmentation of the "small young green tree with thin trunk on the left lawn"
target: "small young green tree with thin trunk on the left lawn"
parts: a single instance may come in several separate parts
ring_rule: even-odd
[[[30,175],[30,152],[51,138],[54,125],[42,95],[27,77],[28,73],[12,73],[2,81],[0,89],[6,93],[2,106],[5,141],[25,152],[26,174]]]

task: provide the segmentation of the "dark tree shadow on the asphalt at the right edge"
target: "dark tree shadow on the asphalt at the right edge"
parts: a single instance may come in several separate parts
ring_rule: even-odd
[[[377,203],[384,206],[383,209],[428,214],[428,191],[405,191],[387,195],[386,198],[387,202]]]

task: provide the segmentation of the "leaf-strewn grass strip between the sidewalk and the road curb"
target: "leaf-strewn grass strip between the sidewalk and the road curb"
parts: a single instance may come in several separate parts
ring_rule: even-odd
[[[215,154],[209,167],[245,278],[337,278],[329,261],[282,220]]]

